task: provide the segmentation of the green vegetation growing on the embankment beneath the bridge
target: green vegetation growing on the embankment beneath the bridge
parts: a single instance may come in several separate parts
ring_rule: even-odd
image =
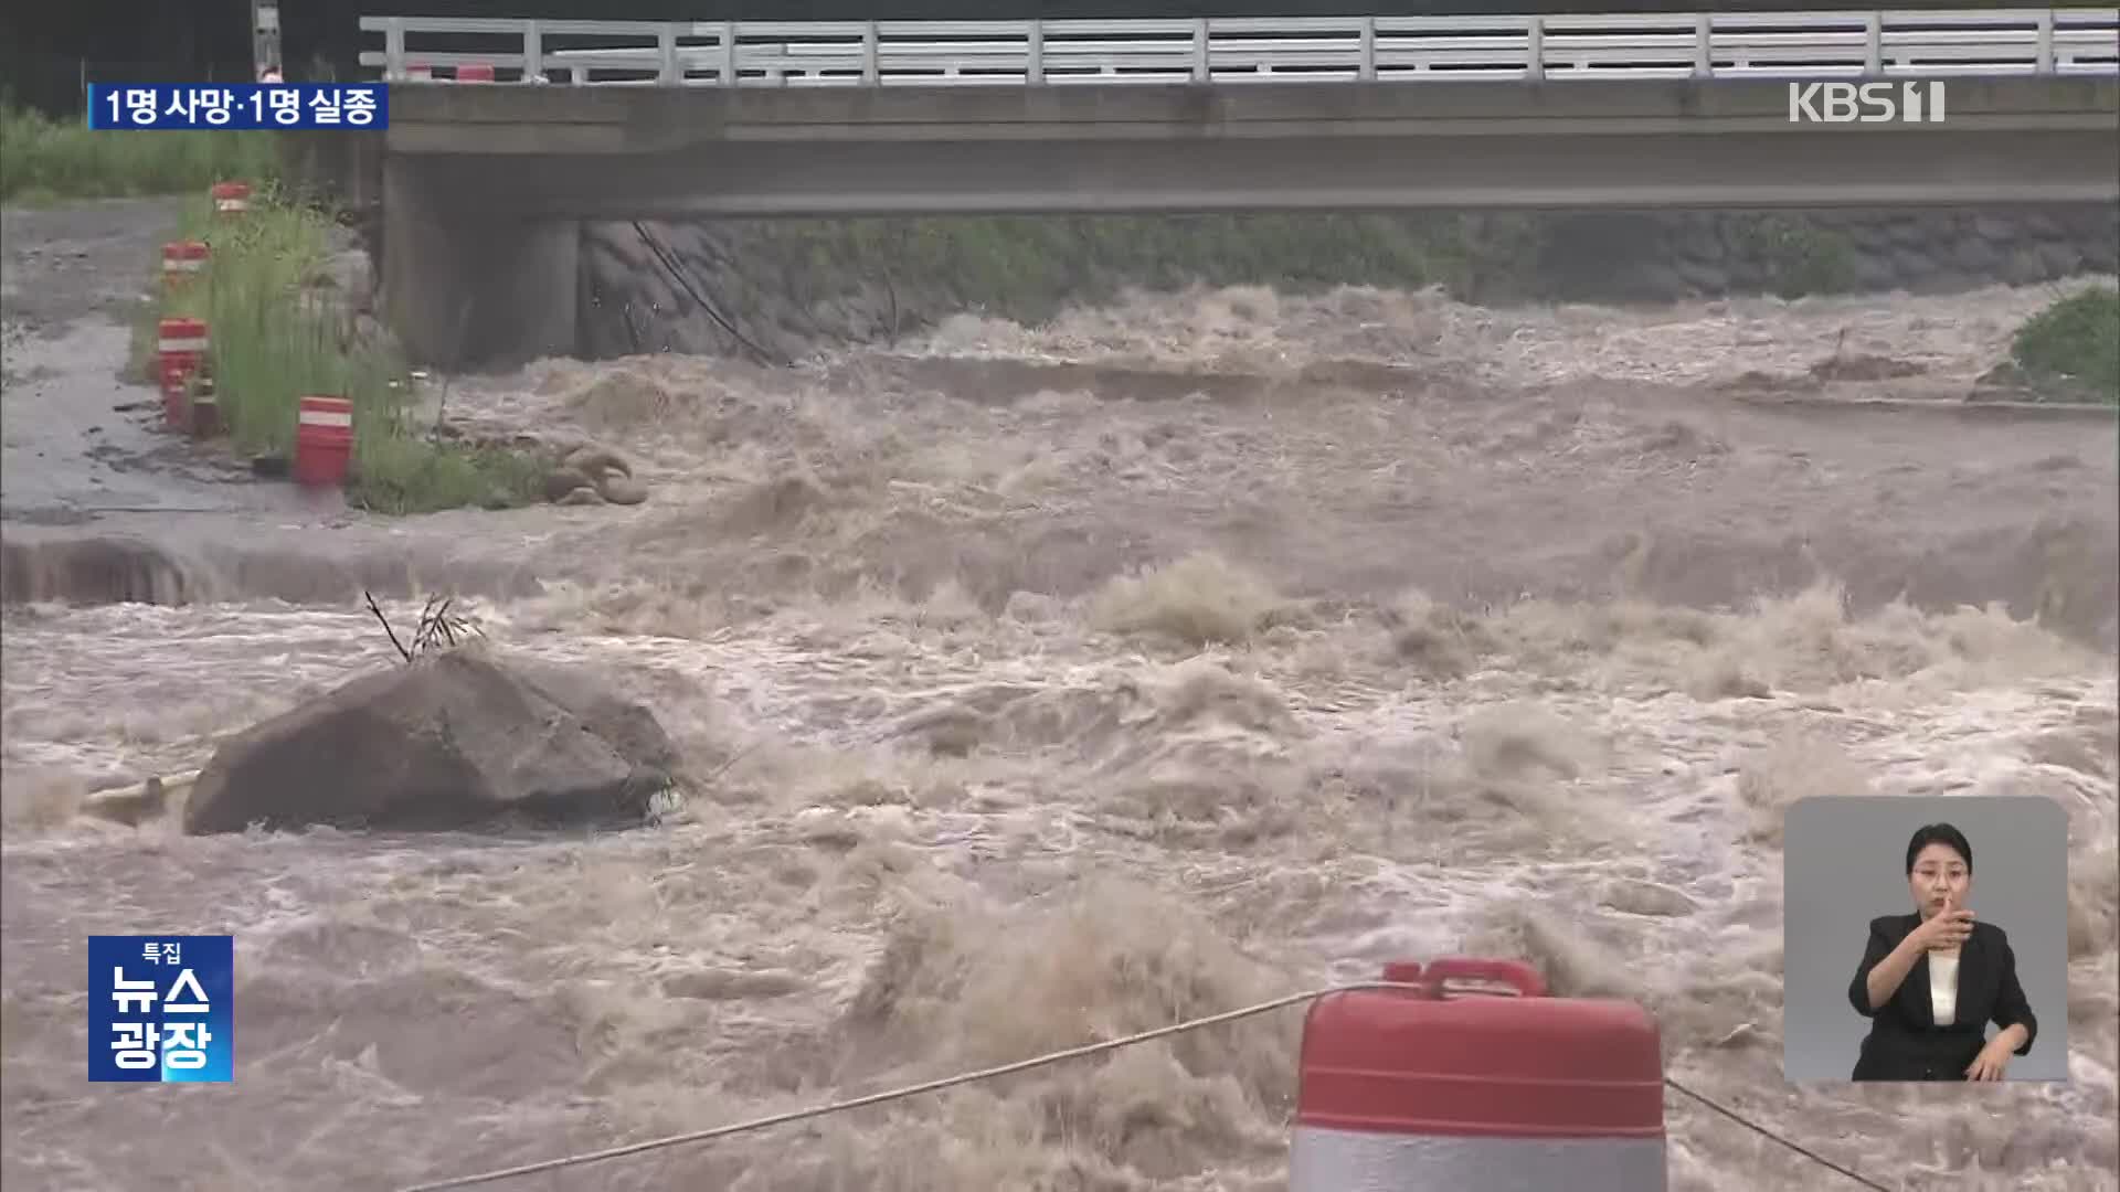
[[[1857,282],[1844,233],[1781,214],[1738,216],[1736,227],[1734,257],[1757,263],[1768,293],[1796,299]],[[772,263],[717,278],[731,310],[831,303],[859,278],[888,284],[907,312],[1030,322],[1128,286],[1439,286],[1473,303],[1596,301],[1647,278],[1645,263],[1666,252],[1649,221],[1603,212],[799,218],[744,221],[727,235],[748,261]]]

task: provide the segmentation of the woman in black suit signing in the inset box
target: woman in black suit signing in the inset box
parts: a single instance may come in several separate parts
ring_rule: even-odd
[[[2031,1052],[2039,1020],[2008,935],[1965,910],[1974,846],[1948,823],[1914,831],[1906,882],[1914,914],[1870,921],[1849,982],[1855,1012],[1872,1020],[1855,1080],[2001,1080],[2012,1054]],[[1989,1022],[2001,1031],[1982,1041]]]

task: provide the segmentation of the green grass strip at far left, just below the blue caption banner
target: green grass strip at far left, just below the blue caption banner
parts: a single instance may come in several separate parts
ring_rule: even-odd
[[[276,174],[278,134],[89,132],[87,119],[55,121],[0,106],[0,201],[45,206],[59,199],[206,193],[223,178]]]

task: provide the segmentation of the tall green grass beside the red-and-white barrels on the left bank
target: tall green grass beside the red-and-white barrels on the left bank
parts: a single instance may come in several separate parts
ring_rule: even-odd
[[[204,282],[165,293],[136,335],[140,371],[153,371],[155,320],[204,318],[220,420],[246,456],[290,456],[303,397],[354,403],[348,501],[377,513],[460,505],[507,507],[538,498],[538,464],[494,448],[428,439],[416,424],[403,358],[358,333],[329,288],[333,221],[265,185],[242,218],[216,218],[208,199],[184,206],[176,238],[204,240]],[[157,278],[157,288],[161,282]]]

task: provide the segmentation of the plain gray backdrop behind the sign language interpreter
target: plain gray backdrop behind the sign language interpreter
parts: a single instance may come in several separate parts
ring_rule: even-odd
[[[1827,795],[1783,823],[1783,1052],[1789,1080],[1849,1080],[1870,1018],[1849,1003],[1870,921],[1908,914],[1906,842],[1948,823],[1974,848],[1965,906],[2010,935],[2016,980],[2039,1018],[2006,1080],[2069,1077],[2069,817],[2025,795]],[[1986,1037],[1995,1037],[1989,1022]]]

